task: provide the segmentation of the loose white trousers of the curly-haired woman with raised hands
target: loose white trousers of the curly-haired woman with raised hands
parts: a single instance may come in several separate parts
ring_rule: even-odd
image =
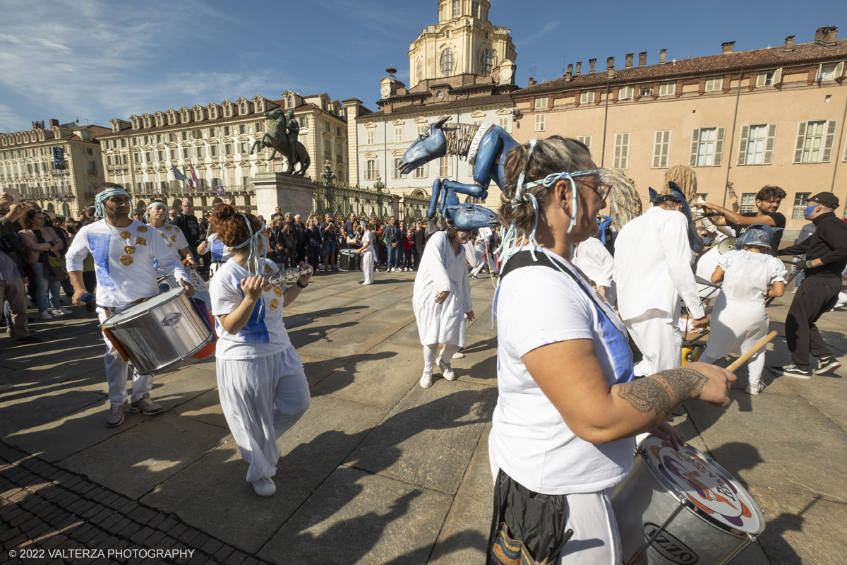
[[[280,459],[276,440],[312,402],[294,346],[257,359],[218,359],[218,392],[226,423],[247,462],[247,480],[273,477]]]

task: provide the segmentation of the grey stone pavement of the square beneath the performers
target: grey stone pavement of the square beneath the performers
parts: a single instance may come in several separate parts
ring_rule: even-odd
[[[255,496],[220,411],[213,359],[158,374],[165,412],[108,409],[97,320],[82,308],[33,324],[49,341],[0,338],[0,563],[438,563],[482,565],[490,520],[487,435],[496,401],[490,280],[472,280],[459,379],[418,385],[414,274],[320,274],[285,322],[312,407],[280,438],[278,491]],[[789,363],[783,321],[768,365]],[[837,357],[847,314],[819,326]],[[839,563],[847,554],[847,402],[839,369],[772,378],[717,410],[686,405],[676,425],[765,508],[744,565]],[[436,377],[440,375],[436,374]],[[102,554],[99,552],[102,550]],[[12,552],[15,552],[14,556]],[[85,553],[88,551],[88,553]],[[111,552],[110,552],[111,551]]]

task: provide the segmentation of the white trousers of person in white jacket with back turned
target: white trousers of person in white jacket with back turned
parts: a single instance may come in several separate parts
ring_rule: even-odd
[[[672,317],[673,316],[673,317]],[[647,310],[632,319],[623,320],[633,336],[644,360],[635,366],[636,376],[661,373],[683,364],[683,335],[679,330],[679,312]]]

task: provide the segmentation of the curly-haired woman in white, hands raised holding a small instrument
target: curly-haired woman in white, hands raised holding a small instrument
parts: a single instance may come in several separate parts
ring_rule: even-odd
[[[215,205],[213,219],[219,240],[233,250],[211,288],[218,322],[220,404],[241,457],[249,464],[247,481],[258,496],[272,496],[280,458],[277,440],[306,413],[310,402],[303,364],[282,313],[312,274],[304,274],[294,286],[271,285],[264,275],[278,269],[264,258],[268,240],[262,222],[223,202]]]

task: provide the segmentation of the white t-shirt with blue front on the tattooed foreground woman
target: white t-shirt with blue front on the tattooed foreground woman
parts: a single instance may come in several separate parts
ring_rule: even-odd
[[[563,258],[549,255],[576,274]],[[594,292],[587,280],[579,278]],[[632,380],[626,329],[603,298],[594,296],[605,315],[569,275],[557,269],[525,267],[501,280],[495,295],[500,396],[489,438],[493,476],[502,468],[530,490],[569,495],[610,488],[632,469],[634,438],[603,445],[580,440],[521,360],[540,346],[588,339],[594,341],[609,385]]]

